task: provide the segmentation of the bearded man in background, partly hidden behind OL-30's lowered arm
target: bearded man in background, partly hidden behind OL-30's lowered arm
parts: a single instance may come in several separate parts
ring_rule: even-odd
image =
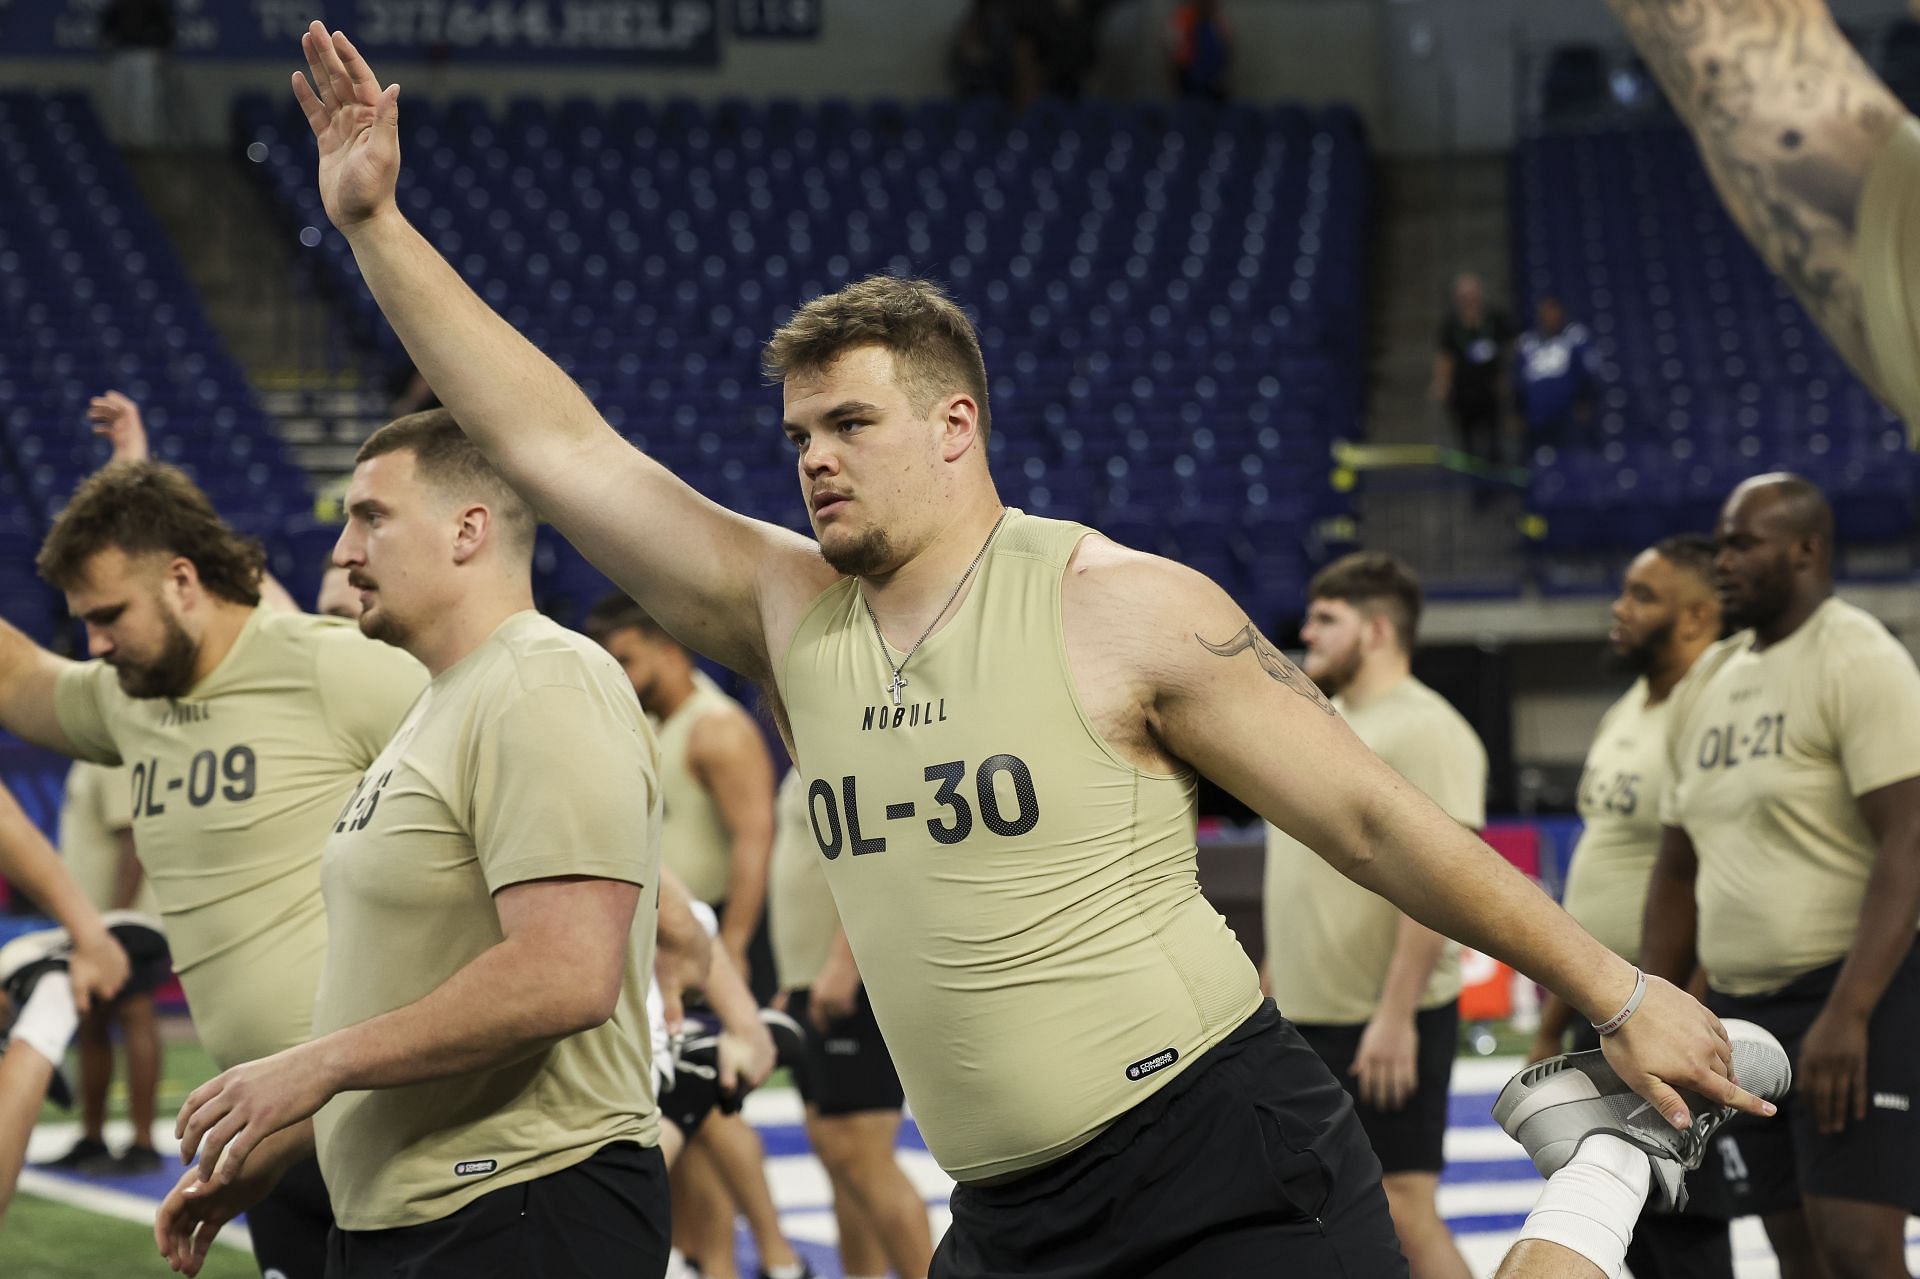
[[[1463,830],[1486,826],[1486,747],[1413,676],[1421,582],[1357,551],[1308,586],[1306,674],[1369,751]],[[1267,826],[1267,985],[1354,1110],[1380,1160],[1413,1279],[1467,1279],[1436,1195],[1459,1043],[1459,947]]]

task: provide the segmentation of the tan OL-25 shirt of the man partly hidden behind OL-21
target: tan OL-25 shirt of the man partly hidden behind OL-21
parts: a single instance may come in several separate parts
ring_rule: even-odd
[[[1636,680],[1607,709],[1580,774],[1580,843],[1567,866],[1567,914],[1603,947],[1640,956],[1647,878],[1661,849],[1661,793],[1667,787],[1667,724],[1672,701],[1647,705]]]

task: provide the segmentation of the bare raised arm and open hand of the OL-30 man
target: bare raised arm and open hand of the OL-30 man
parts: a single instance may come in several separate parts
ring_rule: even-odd
[[[407,353],[534,507],[682,643],[764,678],[833,582],[814,543],[701,497],[628,446],[551,359],[474,296],[394,204],[399,86],[321,23],[294,96],[319,138],[321,198]],[[795,480],[799,497],[799,480]]]

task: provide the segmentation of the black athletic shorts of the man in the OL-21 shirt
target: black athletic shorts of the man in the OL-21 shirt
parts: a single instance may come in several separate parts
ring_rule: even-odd
[[[1707,991],[1707,1006],[1722,1018],[1770,1029],[1797,1075],[1801,1039],[1826,1006],[1836,977],[1839,964],[1828,964],[1772,995]],[[1799,1079],[1772,1120],[1728,1120],[1715,1145],[1736,1212],[1786,1212],[1801,1195],[1920,1212],[1920,1116],[1914,1114],[1920,1104],[1920,941],[1907,951],[1866,1022],[1866,1118],[1847,1120],[1836,1135],[1814,1127]]]

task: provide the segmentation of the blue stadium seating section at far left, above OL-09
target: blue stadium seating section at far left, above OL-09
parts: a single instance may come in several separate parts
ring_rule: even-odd
[[[146,411],[236,524],[286,534],[311,507],[242,371],[202,315],[167,236],[79,94],[0,94],[0,597],[48,640],[58,599],[33,553],[108,446],[86,424],[106,388]]]

